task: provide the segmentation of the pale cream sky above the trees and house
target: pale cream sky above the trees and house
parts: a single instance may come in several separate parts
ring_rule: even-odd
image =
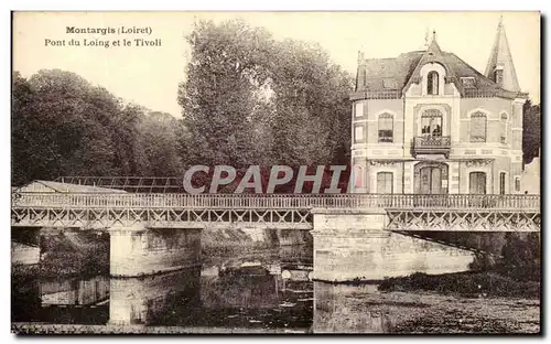
[[[358,50],[366,58],[395,57],[423,50],[436,32],[443,51],[484,73],[499,17],[523,92],[540,101],[540,17],[538,12],[19,12],[13,19],[13,68],[30,77],[40,69],[74,72],[117,97],[181,116],[177,86],[185,79],[191,49],[185,35],[194,20],[240,18],[264,26],[277,40],[317,42],[332,61],[355,73]],[[151,34],[66,33],[75,28],[151,28]],[[160,39],[161,46],[69,46],[83,42]],[[46,44],[65,40],[65,46]]]

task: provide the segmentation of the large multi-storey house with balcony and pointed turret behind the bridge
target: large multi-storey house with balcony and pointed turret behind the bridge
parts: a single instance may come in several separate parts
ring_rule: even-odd
[[[358,56],[352,164],[357,192],[522,193],[522,105],[499,23],[484,74],[444,52]]]

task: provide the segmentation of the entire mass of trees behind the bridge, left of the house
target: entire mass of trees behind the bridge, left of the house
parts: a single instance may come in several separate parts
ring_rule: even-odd
[[[181,175],[192,164],[228,164],[239,175],[258,164],[267,179],[273,164],[349,161],[353,78],[318,45],[277,42],[241,21],[202,21],[187,42],[182,120],[125,104],[74,73],[15,73],[13,184]]]

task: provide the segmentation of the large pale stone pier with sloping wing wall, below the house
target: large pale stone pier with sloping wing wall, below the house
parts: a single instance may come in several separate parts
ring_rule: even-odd
[[[314,278],[380,281],[468,270],[474,254],[387,230],[385,209],[313,209]]]

